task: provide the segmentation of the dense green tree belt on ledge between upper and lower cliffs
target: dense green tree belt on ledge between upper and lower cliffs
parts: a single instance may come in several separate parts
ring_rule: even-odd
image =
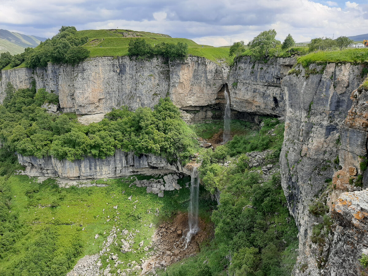
[[[8,84],[6,92],[0,106],[0,141],[22,155],[73,161],[83,156],[105,158],[119,148],[185,163],[197,151],[194,132],[169,98],[160,99],[153,111],[145,107],[130,112],[123,107],[100,123],[85,126],[76,122],[75,114],[53,115],[41,108],[44,100],[52,102],[56,96],[44,89],[14,91]]]

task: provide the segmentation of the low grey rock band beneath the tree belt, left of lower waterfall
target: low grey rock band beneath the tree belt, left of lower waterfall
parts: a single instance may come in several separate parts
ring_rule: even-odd
[[[133,174],[184,173],[190,175],[190,171],[184,169],[179,163],[170,164],[159,156],[151,154],[137,156],[132,152],[123,152],[119,149],[113,156],[107,156],[105,159],[85,156],[83,160],[75,160],[74,162],[66,159],[59,160],[53,156],[43,158],[20,154],[17,156],[18,162],[25,166],[25,171],[22,174],[28,176],[96,179]]]

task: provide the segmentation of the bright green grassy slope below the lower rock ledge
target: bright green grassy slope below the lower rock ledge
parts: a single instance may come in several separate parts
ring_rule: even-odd
[[[138,176],[143,178],[150,177]],[[51,178],[37,183],[27,176],[1,177],[4,235],[0,236],[0,275],[65,275],[79,258],[100,251],[113,226],[132,232],[139,229],[133,246],[137,250],[141,240],[150,242],[155,230],[148,227],[150,223],[158,224],[179,211],[187,211],[189,189],[165,191],[164,198],[159,198],[147,194],[146,188],[129,187],[134,180],[127,177],[98,181],[107,187],[59,188]],[[188,181],[186,177],[179,184],[185,187]],[[207,200],[201,206],[208,208]],[[145,255],[138,250],[123,254],[118,247],[116,252],[125,262],[139,262]],[[125,267],[121,264],[118,268]]]

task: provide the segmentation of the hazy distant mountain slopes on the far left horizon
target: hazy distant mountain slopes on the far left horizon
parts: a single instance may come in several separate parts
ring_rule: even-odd
[[[34,35],[22,35],[21,33],[0,29],[0,53],[8,51],[11,54],[20,54],[24,52],[24,48],[34,48],[45,40],[46,38]]]

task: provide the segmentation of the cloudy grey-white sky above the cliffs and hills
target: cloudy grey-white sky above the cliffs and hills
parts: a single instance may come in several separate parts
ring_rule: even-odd
[[[368,0],[1,0],[0,28],[52,37],[62,25],[131,29],[199,44],[248,42],[275,29],[283,41],[368,33]]]

